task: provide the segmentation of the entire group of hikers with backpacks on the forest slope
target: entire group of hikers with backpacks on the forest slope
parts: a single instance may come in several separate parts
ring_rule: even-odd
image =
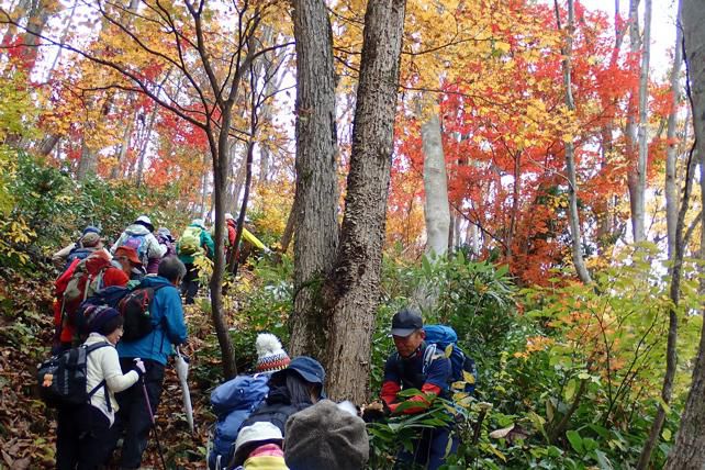
[[[226,219],[234,228],[234,217]],[[58,409],[57,469],[99,469],[111,461],[121,469],[141,467],[165,368],[187,342],[182,302],[193,302],[198,293],[194,257],[212,256],[213,245],[202,220],[177,242],[142,215],[110,249],[100,231],[88,226],[54,255],[65,268],[56,282],[55,356],[41,365],[38,382],[45,401]],[[463,370],[472,371],[455,332],[425,327],[417,310],[399,311],[390,333],[396,350],[384,366],[383,414],[424,412],[434,396],[450,396],[450,383],[462,380]],[[212,393],[219,419],[209,467],[365,468],[365,421],[349,402],[326,399],[322,365],[311,357],[289,358],[271,334],[259,334],[255,346],[253,373]],[[406,399],[411,406],[400,406],[399,392],[406,389],[419,393]],[[457,444],[450,424],[424,429],[413,450],[400,450],[395,468],[437,469]]]

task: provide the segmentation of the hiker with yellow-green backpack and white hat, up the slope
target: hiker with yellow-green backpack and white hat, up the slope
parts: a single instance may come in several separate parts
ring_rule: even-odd
[[[177,253],[179,254],[179,259],[186,265],[186,277],[181,283],[181,294],[186,298],[184,303],[190,305],[199,293],[199,269],[193,261],[199,255],[205,255],[212,259],[215,254],[213,238],[205,230],[203,219],[194,219],[186,227],[183,235],[177,243]]]

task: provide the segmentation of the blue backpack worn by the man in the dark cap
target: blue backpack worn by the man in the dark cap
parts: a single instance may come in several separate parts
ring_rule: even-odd
[[[424,326],[424,332],[426,332],[426,344],[428,345],[424,351],[424,371],[436,354],[444,354],[446,348],[452,345],[452,351],[450,352],[450,365],[452,368],[451,381],[465,381],[466,387],[463,391],[473,393],[478,380],[478,371],[474,366],[474,360],[468,357],[460,346],[458,346],[458,334],[456,331],[446,325],[426,325]],[[463,372],[470,373],[474,381],[468,383]]]

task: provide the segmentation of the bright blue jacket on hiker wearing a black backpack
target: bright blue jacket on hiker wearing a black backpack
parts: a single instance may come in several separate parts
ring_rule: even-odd
[[[167,358],[174,354],[171,345],[180,345],[187,338],[181,295],[171,282],[159,276],[144,278],[141,286],[166,286],[155,292],[149,304],[149,314],[156,327],[144,338],[118,343],[118,355],[152,359],[166,366]]]

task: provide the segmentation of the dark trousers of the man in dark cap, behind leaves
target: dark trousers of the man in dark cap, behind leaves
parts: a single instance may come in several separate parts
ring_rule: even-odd
[[[449,439],[452,439],[450,449],[448,449]],[[457,450],[458,439],[451,435],[450,427],[426,428],[422,430],[421,439],[413,443],[411,452],[402,449],[396,455],[394,469],[409,469],[410,463],[413,463],[428,470],[437,470],[446,462],[446,457]]]

